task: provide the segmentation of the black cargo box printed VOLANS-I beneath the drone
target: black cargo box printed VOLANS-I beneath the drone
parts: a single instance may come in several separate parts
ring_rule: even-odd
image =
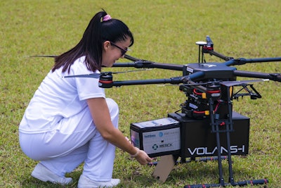
[[[216,133],[211,132],[209,118],[195,120],[188,118],[184,113],[169,113],[169,118],[174,118],[181,123],[181,158],[217,156],[218,147]],[[221,155],[228,154],[226,138],[226,125],[219,125]],[[233,112],[233,131],[230,132],[231,155],[247,155],[249,151],[249,118]]]

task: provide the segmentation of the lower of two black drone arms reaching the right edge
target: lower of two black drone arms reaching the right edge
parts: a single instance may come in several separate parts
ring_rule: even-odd
[[[264,79],[269,79],[269,80],[281,82],[280,73],[253,73],[253,72],[248,72],[248,71],[235,70],[234,75],[240,76],[240,77],[264,78]]]

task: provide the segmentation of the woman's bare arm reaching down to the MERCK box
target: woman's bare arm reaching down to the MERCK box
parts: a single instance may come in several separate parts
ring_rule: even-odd
[[[107,103],[104,98],[87,99],[87,104],[93,117],[93,122],[104,139],[130,153],[131,156],[138,153],[135,157],[142,165],[151,161],[151,158],[147,155],[147,153],[145,153],[145,151],[139,151],[130,142],[128,142],[120,130],[112,125],[110,111],[108,110]]]

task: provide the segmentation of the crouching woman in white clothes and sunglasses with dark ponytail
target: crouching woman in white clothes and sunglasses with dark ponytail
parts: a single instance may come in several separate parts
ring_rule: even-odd
[[[134,147],[118,130],[119,108],[105,98],[98,79],[70,77],[100,73],[124,58],[133,35],[122,21],[105,11],[96,13],[80,42],[55,58],[55,65],[34,93],[19,127],[20,146],[39,161],[37,179],[69,184],[65,177],[84,162],[78,187],[114,187],[115,146],[145,165],[151,158]]]

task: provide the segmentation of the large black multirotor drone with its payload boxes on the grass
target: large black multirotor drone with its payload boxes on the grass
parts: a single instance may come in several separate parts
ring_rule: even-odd
[[[152,135],[152,131],[161,132],[163,135],[165,126],[145,127],[150,124],[164,125],[166,130],[173,130],[179,136],[180,144],[177,148],[162,150],[161,152],[149,153],[149,156],[171,155],[174,164],[185,163],[186,158],[191,161],[195,157],[216,156],[218,161],[218,183],[214,184],[190,184],[188,187],[226,187],[226,186],[244,186],[247,184],[267,184],[267,179],[244,180],[235,182],[233,177],[232,159],[233,155],[247,155],[249,149],[249,118],[233,111],[233,100],[240,97],[249,96],[250,99],[259,99],[261,94],[254,88],[253,82],[265,82],[272,80],[281,82],[280,73],[257,73],[243,70],[237,70],[235,65],[244,65],[246,63],[263,63],[281,61],[281,57],[276,58],[233,58],[224,56],[214,51],[214,43],[209,36],[205,42],[196,42],[198,49],[198,62],[185,65],[171,63],[156,63],[146,61],[125,55],[124,58],[132,61],[130,63],[115,63],[112,67],[138,68],[144,69],[166,69],[176,70],[182,73],[178,77],[169,77],[164,79],[150,80],[124,80],[113,81],[114,74],[125,72],[102,72],[89,75],[69,75],[67,77],[92,77],[99,79],[99,87],[112,88],[126,85],[140,84],[171,84],[178,86],[178,89],[185,94],[187,99],[180,105],[181,110],[175,113],[169,113],[167,118],[161,120],[151,120],[144,123],[131,124],[131,141],[134,146],[145,150],[145,139],[143,135]],[[223,63],[209,63],[205,61],[204,54],[221,58]],[[55,56],[33,56],[33,57],[55,57]],[[137,70],[131,70],[137,71]],[[237,77],[250,77],[256,80],[237,80]],[[234,87],[239,89],[234,89]],[[163,123],[164,122],[164,123]],[[150,129],[141,130],[140,126]],[[151,132],[150,132],[151,131]],[[171,134],[170,134],[171,135]],[[148,138],[149,139],[149,138]],[[192,142],[197,139],[197,143]],[[200,140],[198,140],[200,139]],[[172,146],[165,144],[161,139],[162,145],[153,144],[151,148],[164,149]],[[173,143],[174,144],[174,143]],[[175,144],[174,144],[175,146]],[[224,156],[226,155],[226,156]],[[222,160],[228,159],[228,182],[224,180]]]

